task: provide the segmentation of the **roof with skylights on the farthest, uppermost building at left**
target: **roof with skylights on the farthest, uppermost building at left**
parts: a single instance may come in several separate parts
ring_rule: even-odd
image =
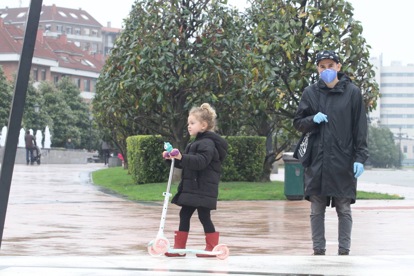
[[[8,8],[8,9],[0,9],[0,12],[2,12],[3,14],[7,14],[7,16],[3,18],[3,22],[14,23],[14,22],[25,22],[28,10],[29,10],[28,7]],[[26,14],[23,17],[18,18],[17,16],[22,12],[26,12]],[[56,13],[54,13],[53,6],[42,6],[42,12],[43,13],[40,16],[41,21],[57,20],[57,21],[70,22],[74,24],[86,24],[86,25],[92,25],[92,26],[97,26],[97,27],[102,26],[88,12],[84,10],[56,7]],[[59,12],[63,12],[66,15],[66,17],[64,17]],[[77,18],[72,17],[70,13],[75,14]],[[82,14],[86,16],[88,19],[84,19],[82,17]]]

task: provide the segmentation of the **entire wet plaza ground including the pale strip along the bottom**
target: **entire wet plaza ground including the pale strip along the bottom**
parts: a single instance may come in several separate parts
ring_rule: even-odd
[[[404,273],[414,268],[413,199],[357,200],[352,205],[352,256],[334,256],[338,226],[331,208],[325,218],[328,256],[309,256],[309,202],[286,200],[219,201],[212,220],[220,243],[230,249],[226,260],[151,257],[146,245],[158,231],[162,202],[136,203],[100,192],[89,175],[101,168],[100,163],[15,165],[1,275],[207,275],[214,270],[232,275],[409,275]],[[173,240],[180,207],[168,208],[164,233]],[[187,247],[204,246],[195,216]]]

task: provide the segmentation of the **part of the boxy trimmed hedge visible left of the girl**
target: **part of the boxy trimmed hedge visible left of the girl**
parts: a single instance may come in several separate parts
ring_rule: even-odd
[[[161,135],[136,135],[127,138],[128,168],[137,184],[167,182],[170,166],[162,158]]]

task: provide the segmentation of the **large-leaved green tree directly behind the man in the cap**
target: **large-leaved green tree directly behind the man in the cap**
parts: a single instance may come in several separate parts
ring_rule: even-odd
[[[263,180],[277,154],[291,147],[298,133],[292,127],[303,90],[318,81],[315,54],[323,49],[339,53],[342,72],[362,91],[366,109],[373,110],[380,96],[369,45],[360,22],[353,19],[351,4],[344,0],[256,0],[246,10],[251,53],[251,74],[244,103],[250,125],[268,137]],[[284,141],[273,139],[282,135]],[[278,141],[279,140],[279,141]]]

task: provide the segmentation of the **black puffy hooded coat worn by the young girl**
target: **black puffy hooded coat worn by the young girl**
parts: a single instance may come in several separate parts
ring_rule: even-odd
[[[175,166],[182,169],[181,182],[171,203],[215,210],[221,163],[226,158],[228,147],[227,141],[218,134],[199,132],[185,148],[181,160],[176,159]]]

